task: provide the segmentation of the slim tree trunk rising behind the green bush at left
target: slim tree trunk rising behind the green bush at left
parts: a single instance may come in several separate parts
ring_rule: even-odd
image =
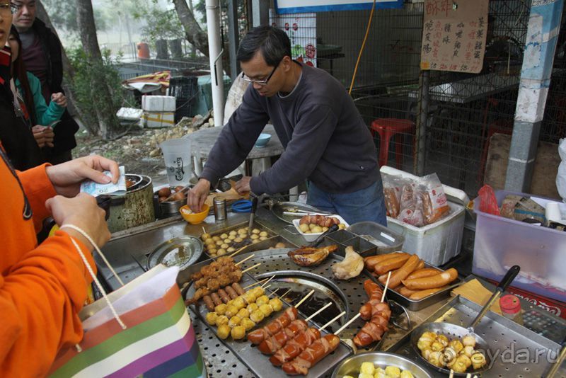
[[[79,26],[79,35],[83,49],[93,67],[103,67],[103,59],[98,46],[98,37],[96,36],[96,25],[94,23],[93,4],[91,0],[75,0],[76,1],[76,21]],[[113,127],[117,125],[115,117],[116,110],[108,109],[103,103],[111,103],[111,92],[104,76],[98,76],[98,82],[92,84],[92,98],[96,101],[95,112],[98,119],[99,134],[103,139],[112,137]]]

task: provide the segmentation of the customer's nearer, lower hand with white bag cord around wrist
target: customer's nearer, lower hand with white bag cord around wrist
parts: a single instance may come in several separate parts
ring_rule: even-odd
[[[52,214],[59,227],[74,224],[91,236],[97,246],[101,247],[110,240],[110,231],[104,219],[105,212],[96,205],[96,198],[86,193],[79,193],[74,198],[56,195],[45,202],[45,207]],[[64,229],[67,234],[81,241],[92,251],[91,243],[74,229]]]

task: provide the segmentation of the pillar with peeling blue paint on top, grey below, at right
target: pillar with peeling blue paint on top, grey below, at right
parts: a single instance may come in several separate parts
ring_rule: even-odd
[[[529,192],[564,0],[533,0],[505,189]]]

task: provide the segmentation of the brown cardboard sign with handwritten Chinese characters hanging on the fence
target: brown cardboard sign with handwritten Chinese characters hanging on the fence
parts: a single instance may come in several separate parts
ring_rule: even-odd
[[[424,0],[421,69],[480,72],[488,11],[488,0]]]

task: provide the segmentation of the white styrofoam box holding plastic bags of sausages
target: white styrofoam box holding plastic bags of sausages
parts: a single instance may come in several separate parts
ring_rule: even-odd
[[[382,166],[380,171],[391,176],[418,179],[418,176],[390,166]],[[415,227],[387,217],[387,228],[405,237],[403,251],[414,253],[427,263],[436,266],[447,263],[460,253],[466,215],[464,206],[461,204],[468,202],[468,196],[462,190],[447,185],[442,186],[450,206],[450,213],[447,217],[424,227]]]

